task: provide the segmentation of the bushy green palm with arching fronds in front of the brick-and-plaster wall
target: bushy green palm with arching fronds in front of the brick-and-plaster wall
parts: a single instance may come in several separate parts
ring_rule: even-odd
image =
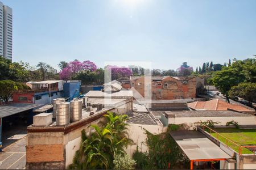
[[[125,135],[127,116],[108,112],[106,125],[101,128],[93,125],[95,132],[86,135],[82,131],[80,149],[76,152],[71,169],[113,169],[114,155],[126,154],[123,149],[129,141]]]

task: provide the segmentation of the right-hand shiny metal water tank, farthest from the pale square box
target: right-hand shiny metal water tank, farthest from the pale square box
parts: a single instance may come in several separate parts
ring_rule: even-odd
[[[82,118],[82,100],[72,100],[71,102],[71,122],[79,121]]]

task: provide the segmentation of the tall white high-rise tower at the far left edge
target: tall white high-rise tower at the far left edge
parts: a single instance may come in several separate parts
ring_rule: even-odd
[[[13,9],[0,2],[0,56],[13,57]]]

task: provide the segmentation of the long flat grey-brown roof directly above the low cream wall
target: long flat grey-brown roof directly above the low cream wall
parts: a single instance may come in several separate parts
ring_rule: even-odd
[[[164,111],[163,113],[165,113],[168,117],[233,117],[233,116],[253,116],[251,114],[234,112],[234,111]]]

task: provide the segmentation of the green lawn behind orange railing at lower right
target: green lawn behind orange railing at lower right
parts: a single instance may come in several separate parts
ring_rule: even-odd
[[[254,146],[256,146],[256,129],[216,128],[213,130],[217,131],[218,133],[220,133],[224,137],[230,139],[234,143],[237,143],[238,145],[254,145]],[[211,134],[213,135],[213,137],[217,138],[216,133],[212,132]],[[225,138],[219,136],[218,139],[221,142],[226,144]],[[236,146],[230,142],[228,142],[228,146],[238,152],[238,146]],[[250,150],[247,150],[246,148],[243,148],[242,154],[253,154],[253,152]]]

